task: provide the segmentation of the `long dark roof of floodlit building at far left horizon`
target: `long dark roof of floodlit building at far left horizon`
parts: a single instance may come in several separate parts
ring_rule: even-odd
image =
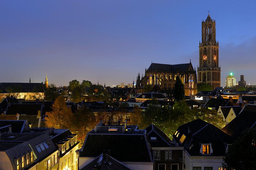
[[[8,88],[13,89],[13,92],[44,92],[43,83],[0,83],[1,93],[10,93]]]

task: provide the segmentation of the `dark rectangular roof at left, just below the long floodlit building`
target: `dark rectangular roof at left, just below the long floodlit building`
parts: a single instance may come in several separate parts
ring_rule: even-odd
[[[37,115],[41,111],[42,104],[11,104],[6,110],[6,114],[29,114]],[[42,114],[42,113],[41,113]]]

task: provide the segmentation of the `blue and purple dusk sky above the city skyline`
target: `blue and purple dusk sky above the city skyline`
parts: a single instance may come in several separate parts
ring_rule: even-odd
[[[201,22],[216,20],[221,85],[256,85],[256,1],[2,0],[0,82],[132,83],[151,62],[199,64]]]

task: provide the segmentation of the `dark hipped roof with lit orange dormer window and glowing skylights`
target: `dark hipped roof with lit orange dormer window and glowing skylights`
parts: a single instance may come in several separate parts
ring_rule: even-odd
[[[188,127],[190,129],[190,133],[188,133]],[[177,131],[180,134],[178,138],[173,135],[173,139],[180,146],[184,146],[186,151],[192,156],[201,155],[201,143],[212,143],[212,156],[224,156],[226,153],[226,144],[231,144],[233,142],[233,138],[231,136],[201,119],[196,119],[192,122],[181,125]],[[184,134],[186,138],[184,142],[180,144],[179,139],[182,134]]]

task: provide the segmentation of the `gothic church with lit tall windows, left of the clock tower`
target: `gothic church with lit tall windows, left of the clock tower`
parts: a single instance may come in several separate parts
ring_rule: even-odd
[[[138,74],[136,93],[142,93],[145,85],[158,86],[160,90],[173,90],[177,76],[184,85],[185,95],[197,93],[196,68],[193,68],[191,61],[175,65],[151,63],[142,78]]]

